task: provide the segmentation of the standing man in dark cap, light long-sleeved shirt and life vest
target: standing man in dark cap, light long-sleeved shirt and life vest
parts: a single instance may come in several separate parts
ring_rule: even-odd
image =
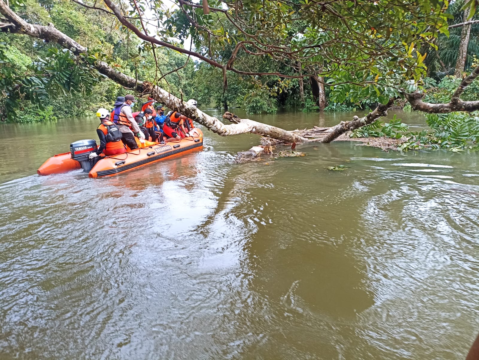
[[[124,99],[123,103],[121,103],[122,98]],[[136,100],[133,95],[125,95],[125,97],[119,96],[110,114],[110,119],[118,126],[122,133],[123,143],[127,145],[130,150],[138,149],[134,134],[136,134],[140,142],[143,142],[145,139],[145,134],[140,131],[131,113],[131,105],[135,102]]]

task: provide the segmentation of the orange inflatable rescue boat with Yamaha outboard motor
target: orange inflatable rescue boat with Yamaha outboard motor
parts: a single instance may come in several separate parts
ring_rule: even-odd
[[[111,176],[124,171],[136,169],[150,163],[170,159],[185,153],[203,149],[203,133],[195,128],[197,134],[179,141],[165,144],[145,141],[138,149],[123,154],[89,159],[88,155],[97,150],[95,140],[79,140],[70,144],[70,152],[57,154],[49,158],[37,170],[39,175],[62,174],[83,169],[90,177]],[[103,154],[102,154],[103,155]]]

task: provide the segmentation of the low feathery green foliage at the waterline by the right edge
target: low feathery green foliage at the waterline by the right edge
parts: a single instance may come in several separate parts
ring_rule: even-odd
[[[478,150],[479,116],[464,113],[426,114],[433,131],[411,132],[399,150],[447,149]]]

